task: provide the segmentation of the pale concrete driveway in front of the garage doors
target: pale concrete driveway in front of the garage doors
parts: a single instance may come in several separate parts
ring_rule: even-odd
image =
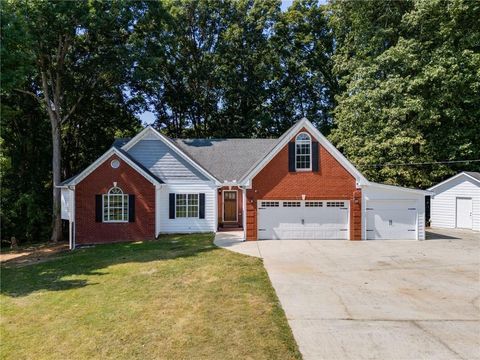
[[[480,234],[268,240],[261,256],[305,359],[480,359]]]

